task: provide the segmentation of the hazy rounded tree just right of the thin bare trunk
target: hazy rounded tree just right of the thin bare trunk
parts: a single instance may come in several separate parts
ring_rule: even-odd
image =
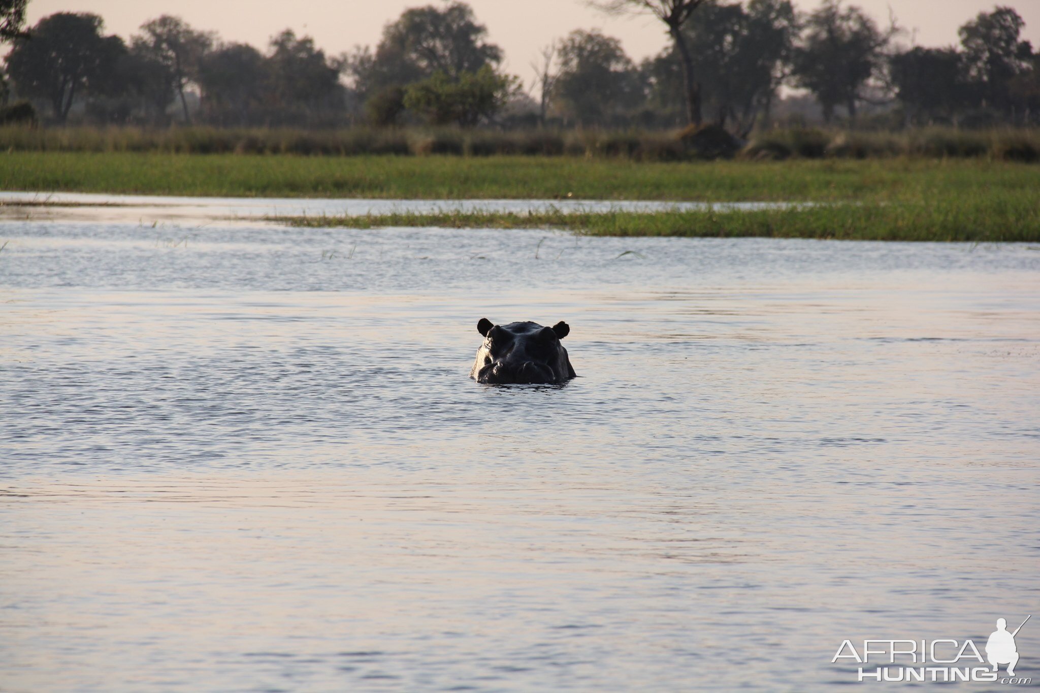
[[[635,105],[642,97],[635,65],[621,42],[581,29],[560,44],[554,94],[581,125],[605,125],[612,112]]]

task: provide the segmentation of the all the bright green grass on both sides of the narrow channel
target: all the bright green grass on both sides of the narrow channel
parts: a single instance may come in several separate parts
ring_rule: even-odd
[[[557,228],[619,236],[1040,241],[1040,166],[986,159],[638,162],[8,152],[0,189],[218,196],[815,202],[784,211],[390,214],[300,225]]]

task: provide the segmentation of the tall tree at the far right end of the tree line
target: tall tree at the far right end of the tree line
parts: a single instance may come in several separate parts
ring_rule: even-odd
[[[980,105],[1010,109],[1010,82],[1028,69],[1033,54],[1030,43],[1019,41],[1023,26],[1014,9],[997,7],[960,28],[968,81]]]

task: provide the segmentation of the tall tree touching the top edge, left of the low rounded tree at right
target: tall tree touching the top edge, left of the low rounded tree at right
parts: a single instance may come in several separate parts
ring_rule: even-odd
[[[799,86],[820,101],[825,122],[831,122],[837,105],[855,121],[864,86],[883,66],[883,49],[898,32],[894,22],[882,31],[859,7],[842,8],[841,0],[824,0],[809,15],[794,72]]]

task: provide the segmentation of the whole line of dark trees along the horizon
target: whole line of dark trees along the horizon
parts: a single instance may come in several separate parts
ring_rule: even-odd
[[[907,47],[895,20],[824,0],[608,0],[647,11],[669,39],[639,63],[620,41],[575,30],[543,47],[526,86],[464,2],[414,7],[374,47],[327,54],[285,30],[265,50],[162,16],[125,41],[101,17],[57,12],[25,28],[26,0],[0,0],[0,99],[48,122],[337,127],[416,123],[498,127],[672,128],[710,122],[746,135],[774,117],[782,86],[827,123],[864,108],[907,125],[1036,124],[1040,53],[1011,7],[966,22],[960,43]]]

